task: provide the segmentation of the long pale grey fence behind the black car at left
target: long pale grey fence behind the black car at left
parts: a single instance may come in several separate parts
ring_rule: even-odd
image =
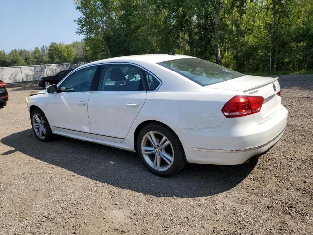
[[[0,80],[5,83],[35,81],[66,69],[75,69],[89,62],[0,67]]]

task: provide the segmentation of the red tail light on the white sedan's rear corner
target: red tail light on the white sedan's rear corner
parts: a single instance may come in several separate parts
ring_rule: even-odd
[[[260,112],[264,98],[261,96],[234,96],[222,108],[226,118],[242,117]]]

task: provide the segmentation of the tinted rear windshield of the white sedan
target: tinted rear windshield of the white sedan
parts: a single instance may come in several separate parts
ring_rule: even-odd
[[[179,73],[201,86],[223,82],[244,75],[199,58],[168,60],[158,64]]]

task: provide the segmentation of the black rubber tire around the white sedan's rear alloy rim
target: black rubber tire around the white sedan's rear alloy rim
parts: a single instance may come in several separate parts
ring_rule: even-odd
[[[171,151],[173,150],[173,152],[174,152],[174,155],[173,155],[174,160],[173,160],[170,168],[167,170],[158,171],[158,170],[154,169],[153,167],[151,167],[147,163],[147,161],[145,160],[145,157],[143,156],[142,148],[141,148],[142,141],[145,138],[146,134],[151,132],[151,131],[152,132],[158,132],[158,133],[162,134],[163,136],[165,136],[167,138],[168,141],[170,141],[170,144],[172,147]],[[158,123],[150,123],[150,124],[146,125],[144,128],[142,128],[142,130],[140,131],[140,133],[138,135],[138,139],[137,139],[137,150],[138,150],[138,154],[139,154],[141,160],[148,167],[148,169],[151,170],[154,174],[161,176],[161,177],[172,176],[172,175],[178,173],[179,171],[181,171],[185,167],[185,165],[187,164],[185,152],[184,152],[184,149],[183,149],[181,142],[179,141],[178,136],[170,128],[163,126],[161,124],[158,124]],[[152,158],[153,158],[153,156],[154,155],[152,155]],[[162,160],[160,160],[160,161],[162,161]]]

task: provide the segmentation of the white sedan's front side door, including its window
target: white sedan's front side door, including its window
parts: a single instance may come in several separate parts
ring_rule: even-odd
[[[91,138],[88,119],[88,100],[99,66],[75,71],[49,96],[49,114],[55,131]]]

